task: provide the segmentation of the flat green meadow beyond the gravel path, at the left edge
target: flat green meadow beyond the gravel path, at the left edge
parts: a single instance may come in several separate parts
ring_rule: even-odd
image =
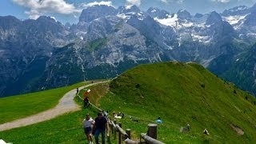
[[[68,91],[84,85],[85,82],[80,82],[58,89],[0,98],[0,124],[48,110],[56,106]]]

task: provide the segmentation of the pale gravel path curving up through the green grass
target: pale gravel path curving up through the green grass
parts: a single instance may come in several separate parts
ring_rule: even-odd
[[[105,82],[109,82],[109,81],[105,81]],[[104,82],[95,82],[93,84],[81,86],[79,87],[79,90],[88,86],[97,85],[99,83],[104,83]],[[76,95],[76,89],[70,90],[68,93],[64,94],[63,98],[60,99],[60,101],[58,102],[58,105],[55,106],[54,108],[43,111],[38,114],[31,115],[26,118],[15,120],[13,122],[3,123],[2,125],[0,125],[0,131],[10,130],[16,127],[32,125],[34,123],[43,122],[52,118],[56,118],[57,116],[68,113],[68,112],[80,110],[81,109],[80,106],[78,106],[78,104],[76,104],[73,100],[75,95]]]

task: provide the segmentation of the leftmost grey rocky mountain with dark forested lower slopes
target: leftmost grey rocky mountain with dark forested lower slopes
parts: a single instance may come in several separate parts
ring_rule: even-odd
[[[0,94],[18,94],[26,85],[22,82],[33,78],[27,74],[42,73],[46,67],[43,63],[50,57],[51,50],[54,46],[65,45],[68,33],[61,23],[49,17],[23,22],[10,16],[0,19]]]

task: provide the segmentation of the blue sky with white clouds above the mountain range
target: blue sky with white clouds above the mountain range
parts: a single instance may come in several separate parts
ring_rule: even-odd
[[[183,9],[191,14],[206,14],[214,10],[222,12],[234,6],[253,6],[256,0],[0,0],[0,16],[14,15],[20,19],[36,19],[40,15],[47,15],[62,23],[76,23],[81,10],[92,2],[114,7],[134,4],[141,10],[154,6],[171,13]]]

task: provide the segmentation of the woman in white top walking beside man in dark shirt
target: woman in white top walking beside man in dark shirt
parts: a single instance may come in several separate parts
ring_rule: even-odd
[[[94,120],[90,118],[90,114],[86,114],[86,118],[82,123],[89,144],[93,144],[92,126],[94,126]]]

